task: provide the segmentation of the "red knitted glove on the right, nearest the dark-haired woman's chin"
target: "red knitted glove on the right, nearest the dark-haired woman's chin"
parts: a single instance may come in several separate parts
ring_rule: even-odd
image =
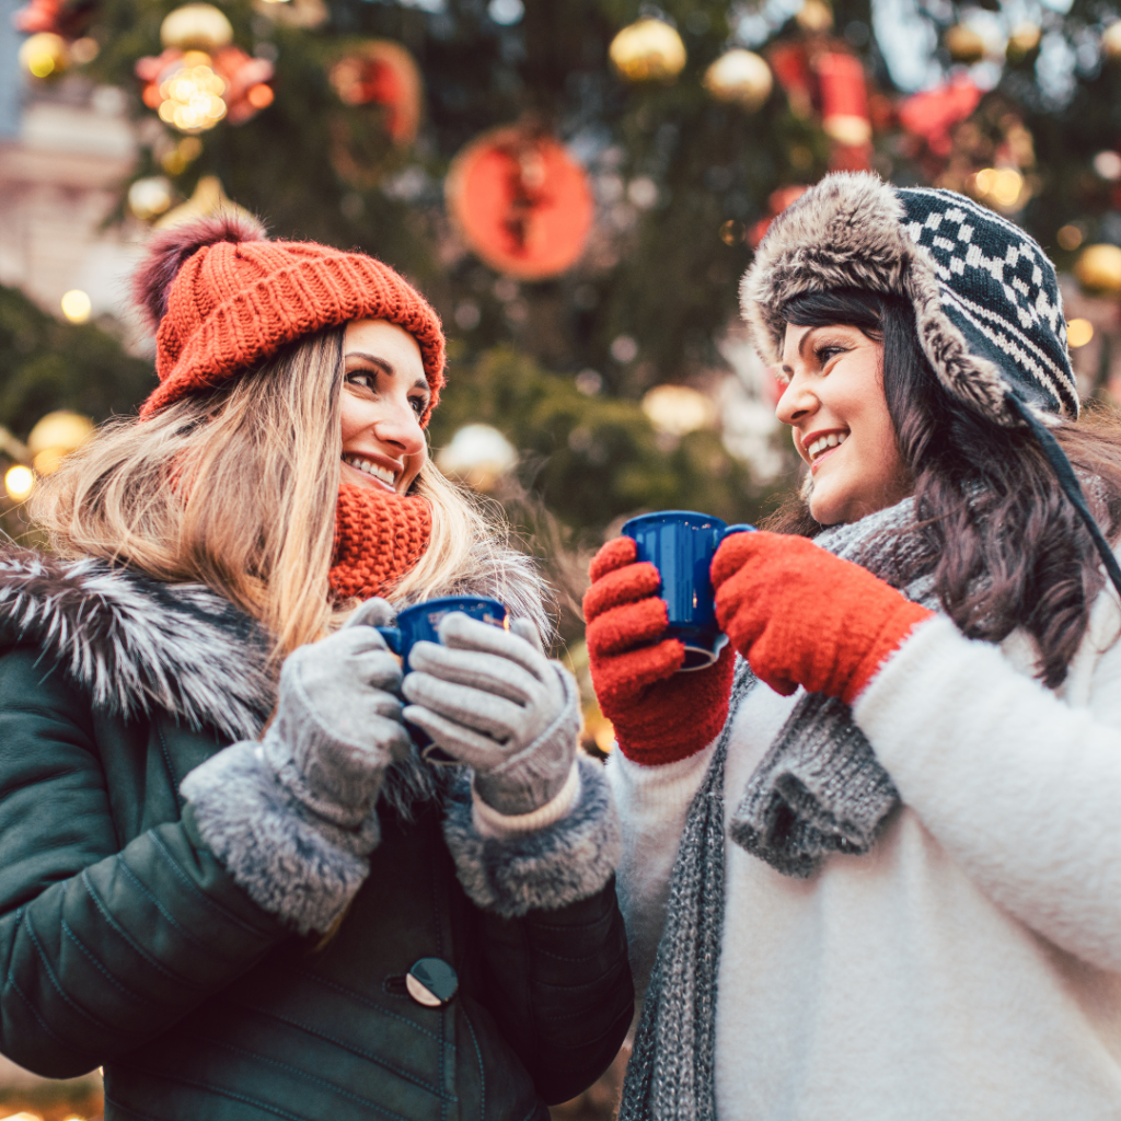
[[[756,676],[852,704],[932,612],[805,537],[734,534],[712,562],[716,619]]]

